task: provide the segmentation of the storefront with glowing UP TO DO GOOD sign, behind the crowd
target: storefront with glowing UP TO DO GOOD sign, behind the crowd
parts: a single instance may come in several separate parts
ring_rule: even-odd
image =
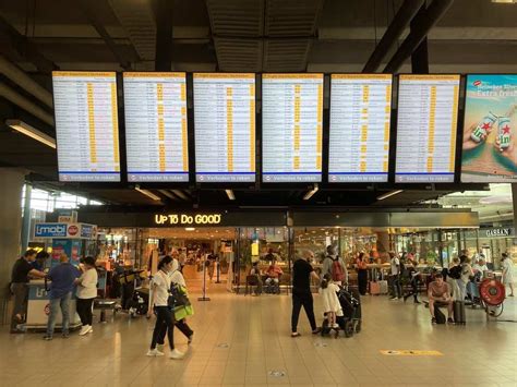
[[[117,258],[133,267],[148,267],[153,252],[181,251],[187,276],[200,278],[200,261],[218,255],[219,280],[238,287],[253,262],[265,269],[274,258],[285,274],[303,250],[314,252],[318,266],[326,246],[334,245],[348,263],[365,252],[386,261],[387,251],[414,251],[424,262],[441,264],[440,254],[457,254],[457,230],[478,227],[468,210],[80,210],[80,219],[99,225],[98,258]],[[410,233],[407,231],[411,230]],[[447,261],[447,259],[445,259]],[[445,264],[445,262],[444,262]]]

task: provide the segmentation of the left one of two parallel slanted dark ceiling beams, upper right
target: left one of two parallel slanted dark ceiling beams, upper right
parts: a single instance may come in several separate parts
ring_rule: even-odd
[[[420,8],[424,4],[425,0],[406,0],[402,5],[400,5],[392,23],[381,38],[381,41],[368,59],[366,64],[364,64],[364,68],[362,69],[363,73],[373,73],[378,69],[384,57],[386,57],[392,47],[395,46],[409,22],[411,22]]]

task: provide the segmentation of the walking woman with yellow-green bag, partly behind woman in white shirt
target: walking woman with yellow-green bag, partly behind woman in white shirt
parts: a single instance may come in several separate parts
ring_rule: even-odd
[[[189,295],[187,292],[187,282],[183,275],[180,271],[180,264],[177,259],[172,259],[172,268],[169,271],[171,289],[175,295],[175,326],[181,330],[181,332],[187,337],[189,344],[192,342],[194,337],[194,331],[187,324],[185,317],[192,316],[194,310],[189,301]],[[165,336],[167,334],[167,325],[163,324],[160,332],[158,335],[158,346],[165,344]]]

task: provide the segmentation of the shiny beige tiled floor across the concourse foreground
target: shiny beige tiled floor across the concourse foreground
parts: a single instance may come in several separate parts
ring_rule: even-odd
[[[91,336],[50,342],[2,327],[0,386],[517,386],[517,324],[486,323],[481,311],[468,310],[465,327],[431,326],[422,305],[366,297],[360,335],[314,337],[302,312],[302,337],[292,339],[290,297],[235,295],[223,285],[213,285],[209,295],[212,301],[195,303],[189,350],[176,335],[179,349],[188,350],[182,361],[146,358],[153,323],[123,314],[96,324]],[[318,312],[317,297],[315,304]],[[503,317],[517,319],[516,306],[509,300]],[[383,355],[384,349],[444,355]]]

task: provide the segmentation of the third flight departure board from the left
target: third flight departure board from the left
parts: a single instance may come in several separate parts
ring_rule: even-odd
[[[195,179],[255,181],[255,74],[194,73]]]

